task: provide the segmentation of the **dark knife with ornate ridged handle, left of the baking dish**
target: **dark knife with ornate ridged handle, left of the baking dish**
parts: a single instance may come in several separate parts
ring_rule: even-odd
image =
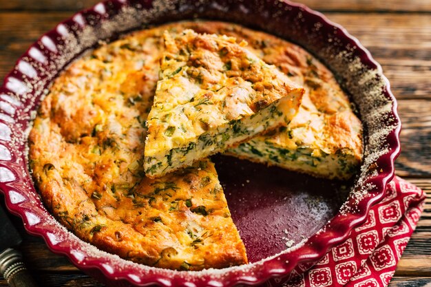
[[[36,287],[22,254],[13,247],[23,241],[8,215],[0,206],[0,273],[11,287]]]

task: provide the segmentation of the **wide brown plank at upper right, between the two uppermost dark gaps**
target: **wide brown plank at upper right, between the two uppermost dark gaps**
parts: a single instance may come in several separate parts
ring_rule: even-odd
[[[398,98],[431,98],[429,14],[326,13],[326,16],[343,25],[370,50],[381,63]]]

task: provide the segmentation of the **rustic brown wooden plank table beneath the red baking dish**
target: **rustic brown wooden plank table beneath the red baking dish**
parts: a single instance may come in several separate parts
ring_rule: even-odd
[[[304,0],[356,36],[383,66],[399,103],[403,151],[397,175],[429,195],[390,286],[431,285],[431,0]],[[85,1],[91,6],[96,1]],[[81,10],[76,0],[0,0],[0,79],[28,46]],[[17,226],[22,222],[15,219]],[[103,286],[25,235],[25,260],[40,286]],[[7,286],[0,278],[0,286]]]

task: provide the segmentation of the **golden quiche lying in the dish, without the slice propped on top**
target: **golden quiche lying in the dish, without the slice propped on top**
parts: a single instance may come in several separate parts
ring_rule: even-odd
[[[291,134],[295,145],[289,149],[313,149],[313,159],[322,158],[318,150],[333,158],[351,153],[359,164],[360,122],[326,67],[275,36],[231,23],[197,21],[133,32],[67,67],[34,120],[30,168],[56,219],[104,251],[178,270],[246,264],[244,244],[210,160],[157,179],[145,176],[146,120],[165,50],[163,33],[186,29],[247,41],[246,49],[304,85],[298,116],[279,131]],[[301,122],[302,117],[309,120]],[[266,144],[276,136],[261,141]],[[251,154],[237,151],[230,150],[236,156]],[[331,164],[328,168],[339,169],[340,178],[353,170],[343,169],[339,160]],[[313,173],[326,176],[314,167]]]

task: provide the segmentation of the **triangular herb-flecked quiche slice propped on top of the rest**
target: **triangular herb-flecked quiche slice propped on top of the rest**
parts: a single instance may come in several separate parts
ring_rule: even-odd
[[[297,113],[304,89],[235,41],[193,30],[165,32],[147,120],[150,178],[285,126]]]

